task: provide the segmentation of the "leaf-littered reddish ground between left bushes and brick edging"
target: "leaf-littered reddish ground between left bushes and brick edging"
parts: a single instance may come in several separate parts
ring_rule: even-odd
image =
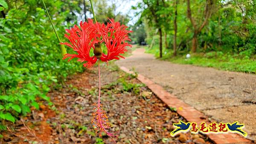
[[[48,93],[49,106],[38,100],[40,110],[23,117],[35,132],[31,135],[21,121],[7,123],[12,132],[3,131],[6,144],[111,144],[107,135],[95,133],[91,116],[97,101],[96,68],[74,75],[62,89]],[[184,120],[164,104],[134,75],[111,64],[102,69],[102,105],[109,116],[110,132],[118,132],[118,144],[203,144],[211,143],[206,135],[181,133],[172,137],[173,123]],[[17,136],[20,135],[20,136]],[[25,139],[24,139],[25,138]],[[39,141],[38,141],[39,139]]]

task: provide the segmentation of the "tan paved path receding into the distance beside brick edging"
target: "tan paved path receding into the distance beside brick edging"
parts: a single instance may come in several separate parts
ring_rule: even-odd
[[[256,139],[256,75],[174,64],[136,49],[119,66],[135,69],[218,122],[245,124]]]

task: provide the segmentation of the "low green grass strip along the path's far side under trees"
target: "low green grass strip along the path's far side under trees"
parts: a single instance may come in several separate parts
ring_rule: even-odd
[[[159,57],[159,49],[153,47],[146,52]],[[176,57],[173,56],[173,51],[163,49],[163,58],[160,60],[171,61],[172,63],[191,64],[195,66],[213,67],[221,70],[234,72],[256,73],[256,56],[252,58],[233,53],[223,52],[206,52],[191,54],[189,59],[186,59],[186,52],[179,52]]]

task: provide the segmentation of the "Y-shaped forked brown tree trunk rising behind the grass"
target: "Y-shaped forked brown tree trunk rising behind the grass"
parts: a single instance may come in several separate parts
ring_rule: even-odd
[[[192,48],[191,48],[192,52],[196,52],[197,43],[198,43],[197,36],[201,32],[201,30],[204,28],[204,26],[207,24],[209,18],[211,17],[214,5],[215,5],[214,0],[206,0],[206,5],[204,8],[204,14],[203,14],[204,21],[200,23],[200,20],[197,20],[198,22],[196,22],[195,18],[192,17],[191,9],[190,9],[190,0],[187,0],[187,16],[189,17],[189,20],[194,28],[193,29],[194,34],[192,38]]]

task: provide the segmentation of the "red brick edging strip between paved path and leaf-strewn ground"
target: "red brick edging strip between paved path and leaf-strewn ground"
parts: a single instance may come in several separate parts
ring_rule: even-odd
[[[124,66],[120,66],[124,72],[129,74],[134,74],[133,71],[130,71]],[[137,79],[144,83],[158,98],[160,98],[164,103],[166,103],[169,107],[175,107],[177,109],[177,113],[185,118],[189,122],[195,122],[197,124],[201,124],[205,122],[206,124],[210,124],[207,121],[207,116],[204,113],[199,112],[195,108],[185,104],[183,101],[178,99],[175,95],[170,94],[162,86],[155,84],[150,79],[144,77],[143,75],[138,74]],[[215,144],[252,144],[253,142],[242,137],[241,135],[235,133],[227,133],[227,134],[207,134],[209,138],[215,142]]]

